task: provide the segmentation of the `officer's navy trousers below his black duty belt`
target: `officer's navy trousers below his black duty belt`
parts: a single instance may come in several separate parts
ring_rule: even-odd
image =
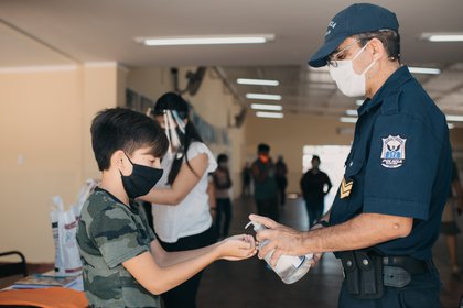
[[[430,272],[412,275],[410,284],[402,288],[385,286],[384,296],[379,299],[354,299],[347,292],[344,280],[338,306],[340,308],[438,308],[441,307],[441,280],[432,262],[429,262]]]

